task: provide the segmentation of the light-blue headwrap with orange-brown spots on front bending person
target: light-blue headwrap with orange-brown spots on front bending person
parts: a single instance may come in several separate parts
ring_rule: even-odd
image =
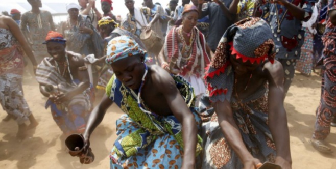
[[[137,54],[143,54],[146,60],[147,51],[139,47],[139,44],[133,38],[125,35],[119,36],[108,42],[105,62],[112,64],[118,60]]]

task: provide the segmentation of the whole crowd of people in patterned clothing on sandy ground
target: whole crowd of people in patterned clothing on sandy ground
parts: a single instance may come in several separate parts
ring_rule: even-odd
[[[0,103],[19,139],[38,126],[22,90],[32,69],[63,135],[82,134],[80,158],[115,103],[125,115],[111,168],[292,168],[284,99],[296,70],[321,69],[310,142],[332,152],[335,0],[125,0],[122,19],[111,0],[101,0],[103,13],[78,0],[58,27],[41,0],[28,3],[22,15],[0,15]]]

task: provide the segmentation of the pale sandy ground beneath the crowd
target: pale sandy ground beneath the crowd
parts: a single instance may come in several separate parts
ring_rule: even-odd
[[[17,124],[0,121],[0,168],[109,168],[109,151],[115,134],[115,120],[122,111],[113,105],[108,110],[101,125],[91,136],[91,147],[95,160],[90,165],[80,164],[77,157],[65,152],[61,141],[61,130],[51,117],[49,109],[44,108],[37,82],[25,80],[23,90],[28,104],[39,125],[29,131],[29,136],[19,142],[15,138]],[[336,168],[336,153],[323,155],[311,147],[309,138],[314,129],[315,110],[320,99],[321,78],[313,73],[304,77],[297,73],[285,100],[288,125],[291,135],[293,168]],[[96,99],[96,104],[100,98]],[[0,110],[0,119],[6,112]],[[336,128],[326,139],[336,152]]]

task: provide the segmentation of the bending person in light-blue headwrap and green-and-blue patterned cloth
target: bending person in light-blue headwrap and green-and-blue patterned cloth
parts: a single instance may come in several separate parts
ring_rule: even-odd
[[[146,57],[147,52],[131,37],[119,36],[108,43],[106,63],[114,75],[106,96],[91,112],[84,154],[91,133],[114,102],[126,115],[116,121],[111,168],[194,168],[202,150],[194,90],[182,77],[157,65],[147,66]]]

